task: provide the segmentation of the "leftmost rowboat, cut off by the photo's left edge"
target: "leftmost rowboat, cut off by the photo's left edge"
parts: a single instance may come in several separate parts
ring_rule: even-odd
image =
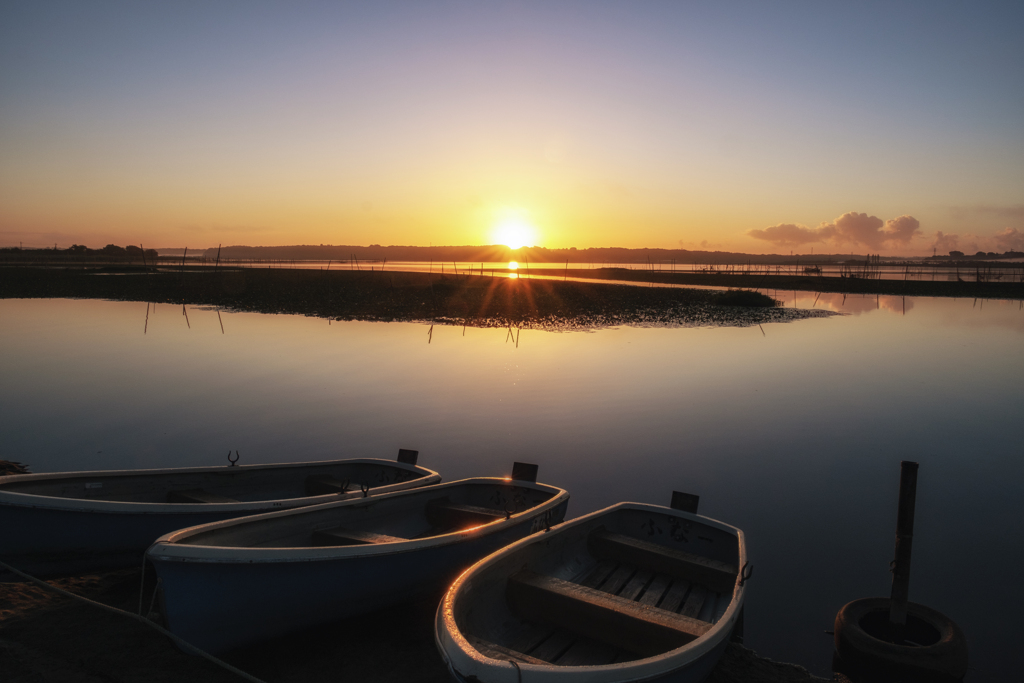
[[[0,560],[37,577],[136,566],[154,541],[174,529],[440,481],[416,460],[416,451],[403,449],[397,462],[360,458],[3,476]],[[19,579],[0,569],[0,581]]]

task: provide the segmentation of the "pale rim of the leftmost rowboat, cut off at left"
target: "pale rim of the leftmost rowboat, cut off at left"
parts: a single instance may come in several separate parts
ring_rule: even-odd
[[[167,467],[158,469],[134,469],[134,470],[86,470],[79,472],[40,472],[33,474],[8,474],[0,476],[0,507],[19,507],[47,510],[59,510],[65,512],[79,513],[110,513],[110,514],[195,514],[197,512],[237,512],[243,510],[260,510],[273,507],[276,510],[291,509],[297,507],[309,507],[324,503],[335,503],[339,501],[352,500],[362,495],[356,488],[343,494],[323,494],[319,496],[303,496],[300,498],[280,498],[265,499],[259,501],[238,501],[236,503],[148,503],[143,501],[105,501],[102,499],[89,498],[67,498],[62,496],[46,496],[43,494],[20,493],[15,490],[5,490],[3,486],[12,482],[24,481],[48,481],[60,479],[99,479],[109,477],[126,476],[160,476],[164,474],[208,474],[215,472],[225,472],[227,474],[237,473],[243,468],[246,471],[285,469],[285,468],[313,468],[332,467],[338,465],[382,465],[389,467],[418,472],[422,476],[407,481],[396,481],[384,486],[371,488],[371,496],[384,496],[391,493],[401,493],[402,490],[417,487],[434,485],[441,480],[440,474],[434,470],[427,469],[420,465],[410,465],[397,460],[387,460],[385,458],[344,458],[340,460],[317,460],[299,463],[263,463],[258,465],[208,465],[201,467]],[[230,470],[230,471],[227,471]]]

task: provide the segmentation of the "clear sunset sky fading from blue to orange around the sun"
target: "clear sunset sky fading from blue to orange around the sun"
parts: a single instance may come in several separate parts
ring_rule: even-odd
[[[0,247],[1024,250],[1020,2],[0,5]]]

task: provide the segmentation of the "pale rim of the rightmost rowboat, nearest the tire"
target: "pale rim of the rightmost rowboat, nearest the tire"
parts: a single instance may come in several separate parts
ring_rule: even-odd
[[[449,590],[444,593],[444,597],[441,599],[440,604],[438,604],[437,613],[434,616],[434,644],[440,651],[441,658],[444,659],[447,668],[453,673],[458,673],[458,676],[461,678],[465,678],[467,675],[480,676],[483,673],[487,673],[497,674],[501,677],[495,678],[495,681],[501,681],[505,678],[509,681],[509,683],[521,681],[522,675],[525,673],[529,673],[530,680],[536,681],[537,683],[544,683],[547,681],[550,681],[550,683],[639,682],[671,675],[674,672],[696,663],[705,655],[711,653],[716,647],[721,645],[722,641],[728,637],[729,633],[732,632],[739,610],[742,609],[743,605],[745,586],[740,583],[740,580],[743,567],[746,566],[748,563],[748,556],[745,536],[742,529],[732,526],[731,524],[726,524],[725,522],[721,522],[717,519],[712,519],[711,517],[705,517],[703,515],[695,513],[675,510],[659,505],[624,502],[616,503],[607,508],[562,522],[557,526],[553,526],[551,531],[563,532],[573,526],[594,523],[597,518],[612,514],[620,510],[639,510],[644,512],[662,513],[669,516],[696,521],[726,531],[730,535],[735,535],[738,552],[738,574],[736,577],[736,582],[733,585],[732,595],[730,597],[728,607],[711,629],[709,629],[702,636],[695,638],[680,647],[668,650],[660,654],[608,665],[559,666],[555,664],[535,665],[524,661],[517,661],[513,664],[509,659],[496,659],[483,654],[470,644],[469,640],[462,633],[462,630],[456,622],[455,610],[459,592],[463,586],[472,580],[473,574],[477,571],[501,562],[509,555],[518,552],[522,548],[544,541],[543,532],[534,533],[525,539],[517,541],[516,543],[506,546],[505,548],[502,548],[501,550],[498,550],[474,563],[458,579],[456,579],[452,586],[449,587]],[[458,669],[453,655],[462,659],[462,661],[459,663],[461,666]],[[685,658],[683,658],[684,655]],[[470,666],[469,671],[467,671],[466,665]],[[502,676],[503,673],[505,676]],[[624,675],[626,678],[624,678]]]

